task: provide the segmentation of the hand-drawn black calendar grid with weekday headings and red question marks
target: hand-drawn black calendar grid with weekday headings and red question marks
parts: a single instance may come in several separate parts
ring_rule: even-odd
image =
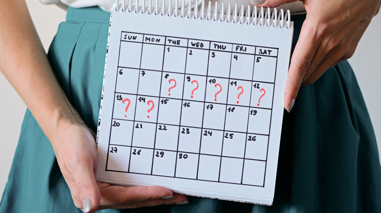
[[[132,40],[124,40],[127,35]],[[184,41],[186,45],[182,46]],[[231,51],[225,50],[227,47]],[[140,48],[140,58],[133,52],[137,48]],[[264,52],[257,52],[257,49]],[[158,51],[162,54],[157,54]],[[182,53],[185,53],[185,57],[181,56]],[[202,58],[202,55],[205,57]],[[229,69],[224,72],[225,68],[220,68],[222,65],[211,61],[214,57],[229,58],[230,62],[226,62]],[[256,121],[272,116],[277,57],[278,49],[272,47],[122,31],[106,171],[264,187],[271,121],[265,124],[258,124]],[[136,66],[133,58],[139,59]],[[170,60],[184,60],[183,68],[171,67]],[[268,72],[260,68],[262,60],[274,62],[274,79],[261,78],[261,73]],[[157,67],[159,61],[160,69]],[[258,63],[259,68],[256,69],[255,64]],[[142,67],[143,64],[145,67]],[[201,68],[202,66],[205,67]],[[245,66],[251,66],[251,70],[248,71]],[[120,79],[118,75],[121,75]],[[122,83],[124,80],[128,83]],[[193,82],[196,83],[196,88]],[[155,84],[158,90],[148,86]],[[165,92],[168,87],[169,95]],[[130,88],[135,89],[129,90]],[[186,91],[191,91],[192,88],[192,95],[198,89],[197,98],[185,97]],[[170,89],[175,90],[173,96],[170,96]],[[239,91],[241,92],[237,94]],[[200,92],[203,92],[203,100],[199,99]],[[271,98],[263,98],[269,93],[271,95],[266,97]],[[211,99],[213,94],[214,102]],[[122,96],[125,98],[122,99]],[[125,100],[128,100],[127,105]],[[257,106],[252,106],[255,102],[258,103]],[[147,105],[151,107],[148,110],[144,109]],[[133,107],[133,117],[127,112],[129,107]],[[123,110],[126,112],[125,118],[121,116]],[[193,112],[201,115],[192,117],[190,113]],[[244,114],[248,119],[240,124],[240,118]],[[215,117],[216,115],[219,117]],[[146,132],[146,129],[151,129],[149,131],[152,133]],[[194,138],[197,132],[200,136],[198,139]],[[126,137],[124,140],[113,141],[114,134]],[[152,138],[149,138],[151,135]],[[185,138],[188,139],[184,140]],[[191,148],[194,145],[198,145],[198,151]],[[115,153],[117,150],[119,153],[125,152],[127,157],[123,154],[118,156],[126,159],[125,163],[128,161],[127,166],[113,162],[109,156],[113,150]],[[109,160],[112,161],[111,164]],[[184,165],[194,165],[194,170],[185,169]],[[233,174],[237,173],[239,177],[227,176],[230,170],[234,170]],[[252,170],[256,170],[257,174],[252,173]]]

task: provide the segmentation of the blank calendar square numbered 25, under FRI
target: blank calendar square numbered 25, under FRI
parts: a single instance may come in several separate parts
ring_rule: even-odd
[[[246,133],[224,132],[222,156],[244,158]]]

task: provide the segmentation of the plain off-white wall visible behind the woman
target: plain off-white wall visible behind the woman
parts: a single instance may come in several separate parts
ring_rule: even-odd
[[[65,11],[55,5],[42,5],[38,0],[27,0],[27,5],[42,44],[47,51]],[[381,12],[380,12],[381,14]],[[360,40],[356,53],[349,60],[358,78],[368,106],[381,153],[381,15],[373,18]],[[0,72],[0,196],[11,168],[26,106]],[[334,104],[334,103],[333,103]]]

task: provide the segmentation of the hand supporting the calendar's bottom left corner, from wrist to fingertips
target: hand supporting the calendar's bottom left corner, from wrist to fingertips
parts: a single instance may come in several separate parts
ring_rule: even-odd
[[[185,202],[185,195],[160,186],[123,187],[95,181],[97,151],[94,133],[85,124],[59,125],[52,139],[57,161],[74,204],[84,212],[100,209],[139,208]]]

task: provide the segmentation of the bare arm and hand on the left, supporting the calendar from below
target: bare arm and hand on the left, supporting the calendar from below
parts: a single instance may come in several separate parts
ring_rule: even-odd
[[[4,29],[0,30],[0,50],[4,51],[0,54],[0,71],[20,94],[51,142],[77,207],[94,212],[187,200],[186,196],[159,186],[127,188],[97,183],[93,133],[60,87],[24,0],[1,1],[0,27]]]

